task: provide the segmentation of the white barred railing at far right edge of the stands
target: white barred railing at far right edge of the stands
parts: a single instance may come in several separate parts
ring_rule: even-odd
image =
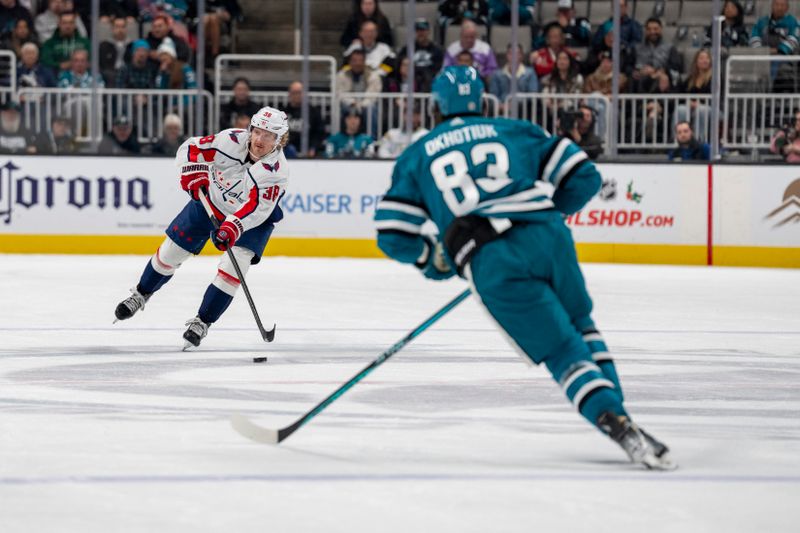
[[[726,73],[726,149],[765,149],[778,130],[794,127],[794,113],[800,109],[800,56],[732,55]]]

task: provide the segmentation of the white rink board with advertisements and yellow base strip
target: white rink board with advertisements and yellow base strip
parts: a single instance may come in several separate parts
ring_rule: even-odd
[[[792,167],[599,166],[600,193],[567,220],[583,261],[800,266]],[[392,162],[292,161],[290,169],[269,255],[382,256],[372,217]],[[175,174],[171,159],[0,160],[0,252],[152,253],[187,201]]]

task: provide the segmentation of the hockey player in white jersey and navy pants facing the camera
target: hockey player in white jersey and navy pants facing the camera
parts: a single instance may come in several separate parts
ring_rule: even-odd
[[[167,237],[131,289],[133,294],[117,305],[117,320],[127,320],[144,309],[153,293],[189,256],[200,253],[209,238],[219,250],[231,249],[242,275],[260,261],[274,225],[283,218],[279,202],[289,178],[283,155],[288,140],[286,114],[264,107],[253,115],[247,130],[227,129],[192,137],[181,145],[175,162],[181,187],[192,199],[166,229]],[[200,203],[201,190],[219,221],[218,229]],[[239,285],[233,263],[223,254],[197,316],[186,322],[187,346],[200,345]]]

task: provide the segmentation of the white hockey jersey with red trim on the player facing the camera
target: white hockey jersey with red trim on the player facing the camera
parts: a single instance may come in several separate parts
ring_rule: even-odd
[[[230,221],[241,235],[272,218],[283,218],[278,202],[286,192],[289,169],[283,150],[251,163],[247,130],[228,129],[216,135],[190,137],[175,156],[180,168],[187,162],[213,163],[208,199],[217,218]]]

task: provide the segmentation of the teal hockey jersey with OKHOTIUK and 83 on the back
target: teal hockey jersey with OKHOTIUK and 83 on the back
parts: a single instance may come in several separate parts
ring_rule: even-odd
[[[563,224],[600,188],[600,174],[571,140],[522,120],[456,117],[409,146],[375,213],[378,246],[414,263],[422,226],[444,235],[455,217],[476,214]]]

